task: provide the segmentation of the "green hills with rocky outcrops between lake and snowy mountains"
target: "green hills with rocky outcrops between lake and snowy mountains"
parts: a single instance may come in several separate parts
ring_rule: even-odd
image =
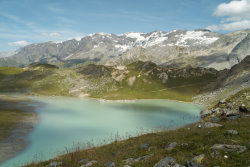
[[[224,93],[249,87],[249,60],[250,56],[247,56],[230,70],[221,71],[191,66],[161,67],[149,61],[126,66],[88,64],[58,68],[49,64],[31,64],[25,68],[1,67],[0,90],[105,99],[192,101],[196,96],[193,100],[203,103],[209,101],[204,97],[214,99],[204,93],[227,95]],[[202,93],[201,97],[197,96]]]

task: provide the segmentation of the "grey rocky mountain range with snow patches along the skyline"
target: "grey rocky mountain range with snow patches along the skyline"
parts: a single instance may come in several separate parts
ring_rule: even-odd
[[[250,55],[249,37],[250,30],[228,34],[208,30],[95,33],[81,39],[25,46],[11,57],[0,58],[0,66],[39,62],[70,67],[85,62],[127,65],[152,61],[160,66],[230,69]]]

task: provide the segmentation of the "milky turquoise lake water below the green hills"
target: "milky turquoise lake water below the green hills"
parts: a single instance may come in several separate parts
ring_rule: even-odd
[[[67,97],[32,97],[39,123],[29,134],[30,145],[0,167],[47,160],[74,144],[112,142],[154,130],[175,129],[200,120],[201,106],[170,100],[98,101]],[[128,135],[129,134],[129,135]],[[102,143],[102,144],[104,144]]]

